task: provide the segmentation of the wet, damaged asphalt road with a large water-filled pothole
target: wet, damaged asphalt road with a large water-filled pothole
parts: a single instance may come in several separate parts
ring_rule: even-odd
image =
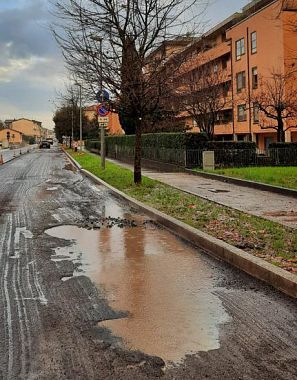
[[[0,379],[291,380],[296,317],[57,148],[0,167]]]

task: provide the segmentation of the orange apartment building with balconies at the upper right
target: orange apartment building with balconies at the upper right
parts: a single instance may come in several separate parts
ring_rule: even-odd
[[[297,92],[297,1],[254,0],[186,47],[181,76],[199,68],[222,73],[226,101],[214,134],[221,140],[252,140],[260,149],[277,140],[273,120],[259,112],[257,93],[273,73],[291,73]],[[201,72],[201,70],[200,70]],[[205,75],[205,74],[204,74]],[[198,130],[188,112],[185,123]],[[285,122],[286,141],[297,141],[297,120]]]

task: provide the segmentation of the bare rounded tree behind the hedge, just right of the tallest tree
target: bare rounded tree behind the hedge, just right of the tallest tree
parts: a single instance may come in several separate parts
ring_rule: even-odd
[[[177,89],[180,110],[191,116],[210,140],[220,115],[230,102],[229,82],[216,64],[204,64],[180,76]]]

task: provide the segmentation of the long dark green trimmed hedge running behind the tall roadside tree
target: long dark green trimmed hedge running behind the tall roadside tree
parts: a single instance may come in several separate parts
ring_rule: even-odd
[[[100,142],[88,140],[88,150],[98,152]],[[106,155],[133,160],[135,135],[107,136]],[[218,166],[247,166],[255,163],[256,144],[245,141],[207,141],[200,133],[149,133],[142,135],[142,157],[178,166],[202,166],[202,151],[214,150]]]

